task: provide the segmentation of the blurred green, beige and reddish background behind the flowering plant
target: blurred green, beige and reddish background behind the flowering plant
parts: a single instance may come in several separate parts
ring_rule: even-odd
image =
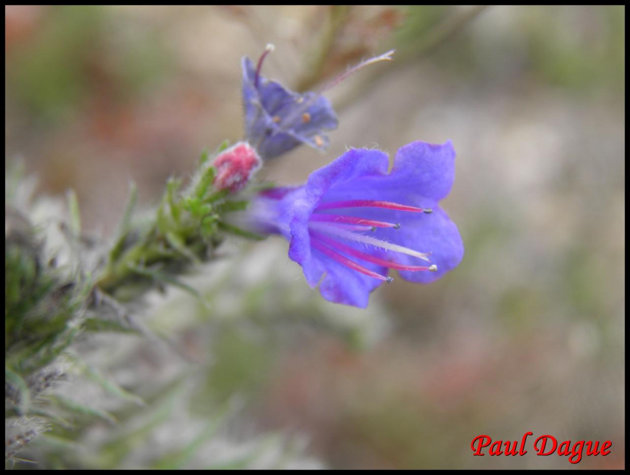
[[[413,140],[451,139],[457,172],[442,205],[466,248],[440,281],[395,278],[362,311],[309,289],[283,239],[230,244],[225,260],[190,277],[209,306],[169,290],[139,312],[185,357],[133,335],[76,350],[134,394],[166,394],[164,417],[151,413],[143,432],[134,418],[145,409],[110,407],[123,423],[52,433],[33,458],[252,467],[259,449],[232,445],[271,434],[284,440],[278,467],[623,468],[624,14],[6,6],[6,163],[21,159],[42,195],[74,189],[88,231],[115,229],[129,181],[149,209],[204,148],[241,138],[243,55],[274,43],[263,74],[305,90],[396,48],[392,62],[326,94],[340,119],[326,154],[299,147],[263,178],[304,181],[347,146],[393,155]],[[158,382],[183,389],[171,397]],[[226,407],[221,431],[233,444],[198,426]],[[472,455],[476,435],[513,441],[527,431],[611,440],[612,453],[576,465],[533,450]]]

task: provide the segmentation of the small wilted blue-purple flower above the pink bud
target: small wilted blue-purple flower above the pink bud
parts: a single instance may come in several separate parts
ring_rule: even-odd
[[[328,147],[326,130],[337,128],[337,117],[328,99],[314,92],[294,93],[261,76],[268,47],[254,66],[243,58],[245,138],[263,159],[272,159],[300,144],[319,150]]]

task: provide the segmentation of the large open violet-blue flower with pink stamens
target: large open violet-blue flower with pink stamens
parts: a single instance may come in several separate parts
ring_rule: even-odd
[[[314,171],[304,186],[275,188],[253,203],[257,227],[289,240],[289,258],[331,302],[367,307],[388,269],[428,283],[459,264],[464,246],[438,202],[450,191],[455,151],[412,142],[389,158],[351,149]],[[324,276],[322,280],[322,277]]]

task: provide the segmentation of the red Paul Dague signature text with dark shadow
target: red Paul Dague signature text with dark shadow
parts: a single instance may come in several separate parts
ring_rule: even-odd
[[[483,449],[486,447],[489,447],[488,455],[525,455],[527,454],[525,445],[527,444],[527,437],[530,435],[534,435],[534,433],[525,432],[520,445],[516,440],[513,443],[509,440],[506,442],[495,440],[495,442],[492,442],[490,435],[478,435],[471,442],[471,449],[474,452],[473,455],[486,455],[483,453]],[[505,447],[505,450],[503,450],[503,447]],[[579,440],[571,447],[570,440],[564,440],[564,442],[558,444],[558,440],[553,435],[541,435],[534,441],[536,455],[551,455],[557,452],[558,455],[569,457],[569,462],[572,464],[577,464],[581,461],[584,450],[586,450],[585,455],[587,456],[604,456],[610,454],[611,447],[612,442],[610,440],[606,440],[604,444],[601,444],[601,447],[597,440],[595,442],[592,442],[592,440],[587,442]]]

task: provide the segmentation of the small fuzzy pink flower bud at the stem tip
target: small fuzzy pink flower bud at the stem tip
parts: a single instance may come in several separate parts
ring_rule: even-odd
[[[247,185],[262,161],[247,142],[238,142],[217,155],[212,164],[217,171],[214,186],[218,190],[228,188],[231,192],[238,192]]]

